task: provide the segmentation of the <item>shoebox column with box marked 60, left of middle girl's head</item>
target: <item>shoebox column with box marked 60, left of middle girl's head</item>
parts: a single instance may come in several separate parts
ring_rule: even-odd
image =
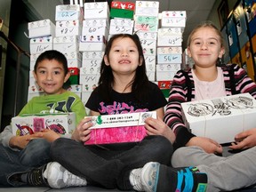
[[[83,29],[79,40],[79,51],[83,54],[80,84],[84,104],[99,82],[108,30],[108,2],[84,3]]]

